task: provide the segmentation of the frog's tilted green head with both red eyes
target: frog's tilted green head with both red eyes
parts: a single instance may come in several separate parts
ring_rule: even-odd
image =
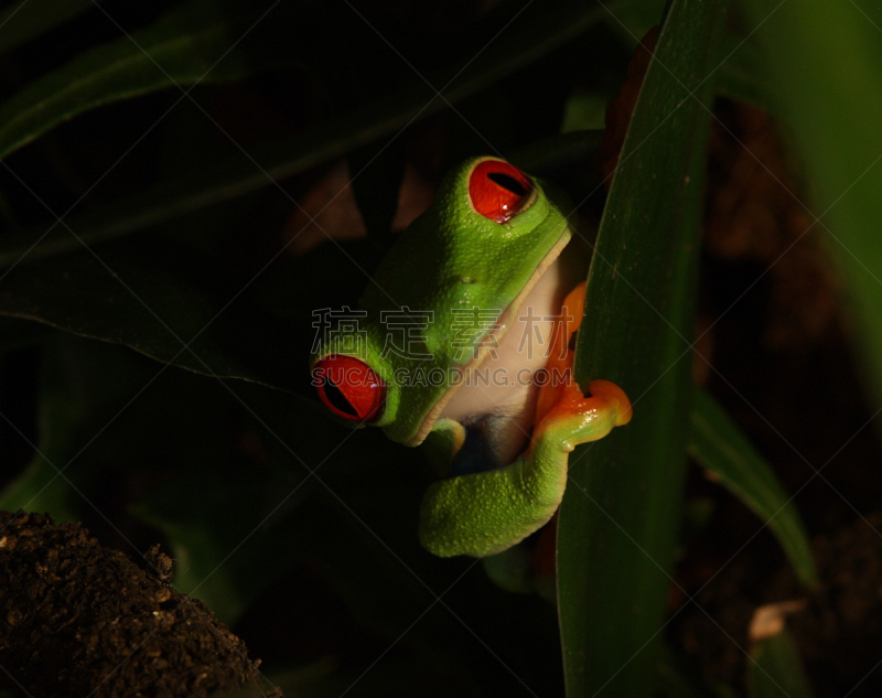
[[[332,412],[417,445],[571,236],[542,184],[497,158],[448,174],[313,354]]]

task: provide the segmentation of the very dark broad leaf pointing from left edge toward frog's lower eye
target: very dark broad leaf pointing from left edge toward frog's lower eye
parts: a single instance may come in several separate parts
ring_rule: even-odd
[[[83,250],[19,265],[3,279],[0,315],[125,344],[213,377],[281,389],[304,383],[291,350],[298,332],[311,332],[309,314],[298,318],[302,327],[280,319],[257,303],[259,284],[240,294],[241,284],[213,271],[215,264],[181,245],[135,240],[103,249],[100,261]],[[298,292],[297,284],[280,289],[273,302],[293,307]]]

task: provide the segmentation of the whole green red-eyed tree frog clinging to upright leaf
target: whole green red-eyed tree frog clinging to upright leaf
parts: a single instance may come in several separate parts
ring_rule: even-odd
[[[418,522],[437,556],[494,556],[542,528],[573,449],[631,420],[616,384],[572,377],[588,255],[564,211],[510,162],[467,160],[312,354],[333,415],[444,463]]]

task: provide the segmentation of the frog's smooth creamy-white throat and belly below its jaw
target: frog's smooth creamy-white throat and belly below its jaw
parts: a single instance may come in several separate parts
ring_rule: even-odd
[[[530,437],[539,390],[533,377],[548,363],[563,299],[584,275],[583,250],[567,245],[527,294],[498,346],[441,412],[442,419],[454,419],[464,427],[496,417],[494,451],[502,463],[513,461]]]

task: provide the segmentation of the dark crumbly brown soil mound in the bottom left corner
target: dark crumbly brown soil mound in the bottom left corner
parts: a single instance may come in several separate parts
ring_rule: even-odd
[[[241,641],[169,586],[168,556],[147,557],[153,573],[79,524],[0,513],[0,688],[171,698],[257,685]]]

